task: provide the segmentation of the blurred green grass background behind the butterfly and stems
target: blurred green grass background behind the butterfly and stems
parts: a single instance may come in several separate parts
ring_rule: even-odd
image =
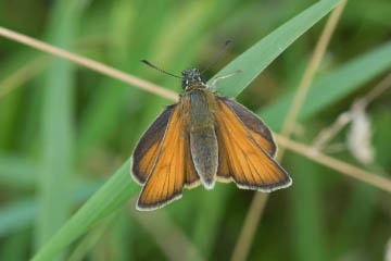
[[[140,59],[178,74],[206,66],[226,39],[234,40],[209,78],[315,2],[3,0],[0,26],[180,92],[176,78]],[[311,144],[390,72],[390,17],[389,0],[348,2],[314,83],[323,91],[340,92],[301,117],[295,139]],[[280,124],[273,119],[283,120],[278,107],[298,87],[325,21],[237,98],[261,112],[275,132]],[[365,74],[376,64],[379,69]],[[130,157],[141,134],[171,103],[0,38],[0,260],[31,257]],[[374,159],[363,164],[348,149],[350,128],[335,137],[331,144],[339,149],[330,154],[390,177],[391,91],[375,99],[366,113]],[[384,259],[391,239],[389,194],[292,152],[282,165],[293,186],[272,195],[249,260]],[[252,197],[253,191],[234,184],[217,184],[212,191],[185,190],[182,199],[150,214],[137,213],[133,198],[60,258],[227,260]]]

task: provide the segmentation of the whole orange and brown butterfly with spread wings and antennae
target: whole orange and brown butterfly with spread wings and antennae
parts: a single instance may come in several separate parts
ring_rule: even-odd
[[[133,176],[143,185],[138,210],[160,209],[200,182],[212,189],[215,181],[234,181],[264,192],[291,185],[273,159],[276,144],[261,119],[213,91],[217,78],[209,87],[197,69],[185,70],[180,78],[179,102],[152,123],[133,154]]]

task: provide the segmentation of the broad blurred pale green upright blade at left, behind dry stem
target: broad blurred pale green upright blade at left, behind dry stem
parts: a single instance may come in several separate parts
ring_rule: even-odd
[[[86,2],[56,1],[47,33],[49,42],[65,49],[71,47]],[[42,175],[38,186],[41,208],[36,223],[37,247],[46,243],[70,214],[74,65],[54,58],[42,80]]]

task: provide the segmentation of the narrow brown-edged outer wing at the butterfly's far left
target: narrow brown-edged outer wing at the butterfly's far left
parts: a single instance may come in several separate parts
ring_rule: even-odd
[[[135,179],[144,184],[159,154],[159,149],[176,104],[167,107],[142,135],[133,156],[131,173]]]

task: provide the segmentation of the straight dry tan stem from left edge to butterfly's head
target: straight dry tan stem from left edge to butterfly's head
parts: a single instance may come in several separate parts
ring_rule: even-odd
[[[97,72],[99,72],[101,74],[104,74],[106,76],[119,79],[122,82],[130,84],[130,85],[133,85],[135,87],[138,87],[140,89],[144,89],[147,91],[155,94],[157,96],[162,96],[162,97],[167,98],[167,99],[173,100],[173,101],[178,100],[178,95],[176,92],[172,91],[172,90],[162,88],[162,87],[160,87],[157,85],[154,85],[154,84],[149,83],[147,80],[143,80],[141,78],[131,76],[131,75],[129,75],[127,73],[124,73],[124,72],[122,72],[119,70],[110,67],[108,65],[104,65],[104,64],[99,63],[97,61],[93,61],[91,59],[87,59],[87,58],[77,55],[75,53],[65,51],[63,49],[53,47],[51,45],[45,44],[45,42],[39,41],[39,40],[36,40],[36,39],[31,38],[31,37],[28,37],[28,36],[12,32],[12,30],[7,29],[4,27],[0,27],[0,35],[5,37],[5,38],[9,38],[9,39],[15,40],[17,42],[24,44],[26,46],[36,48],[36,49],[41,50],[43,52],[48,52],[48,53],[54,54],[56,57],[61,57],[63,59],[66,59],[66,60],[72,61],[74,63],[86,66],[86,67],[91,69],[93,71],[97,71]]]

